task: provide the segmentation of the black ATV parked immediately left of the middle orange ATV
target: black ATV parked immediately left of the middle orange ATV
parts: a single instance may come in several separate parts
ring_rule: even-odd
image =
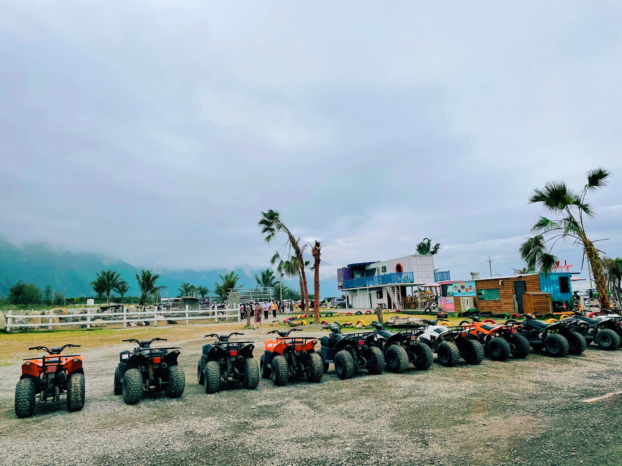
[[[216,393],[221,383],[242,382],[244,388],[254,390],[259,385],[259,367],[253,359],[255,345],[252,341],[229,341],[228,335],[215,333],[206,335],[216,337],[217,341],[203,345],[203,354],[197,365],[197,381],[205,385],[205,393]]]

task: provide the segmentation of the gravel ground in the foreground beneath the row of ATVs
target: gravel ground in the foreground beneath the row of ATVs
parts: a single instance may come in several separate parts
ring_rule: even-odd
[[[267,330],[245,332],[262,349]],[[127,406],[114,396],[114,367],[128,349],[114,344],[82,352],[82,411],[45,404],[29,419],[13,411],[24,357],[15,355],[0,367],[0,463],[620,465],[620,396],[580,400],[622,390],[622,350],[591,345],[565,359],[532,353],[399,375],[359,372],[344,381],[331,366],[319,384],[276,387],[261,379],[257,390],[206,395],[195,375],[204,341],[167,342],[182,347],[186,388],[177,400],[156,392]]]

